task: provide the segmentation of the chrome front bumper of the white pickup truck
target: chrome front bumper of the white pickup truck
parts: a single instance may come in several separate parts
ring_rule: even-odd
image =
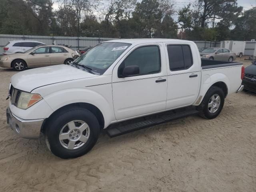
[[[24,120],[12,114],[10,108],[6,110],[6,118],[12,130],[19,136],[29,139],[39,138],[44,119]]]

